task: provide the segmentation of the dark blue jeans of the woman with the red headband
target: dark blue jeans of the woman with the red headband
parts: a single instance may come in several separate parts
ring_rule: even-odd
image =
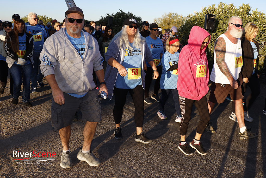
[[[159,104],[159,110],[160,111],[164,110],[164,105],[169,97],[170,92],[172,91],[173,99],[174,99],[174,107],[176,109],[176,115],[177,116],[181,115],[181,110],[180,110],[180,105],[179,105],[179,100],[178,100],[178,97],[179,97],[178,90],[175,88],[175,89],[167,89],[167,90],[161,89],[161,91],[162,91],[162,96],[161,96],[161,101]]]

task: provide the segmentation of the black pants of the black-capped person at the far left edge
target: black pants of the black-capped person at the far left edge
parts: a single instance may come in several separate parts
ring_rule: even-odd
[[[13,85],[14,81],[12,75],[10,75],[10,94],[13,94]],[[8,76],[8,67],[5,60],[0,60],[0,81],[2,86],[5,88],[7,84],[7,76]]]

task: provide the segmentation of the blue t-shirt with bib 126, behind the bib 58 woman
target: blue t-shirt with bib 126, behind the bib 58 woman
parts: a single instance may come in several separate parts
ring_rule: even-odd
[[[151,55],[155,62],[156,66],[160,66],[160,54],[164,53],[164,45],[160,38],[156,37],[156,40],[153,40],[150,36],[146,37],[146,43],[151,51]],[[155,60],[156,59],[156,60]],[[151,67],[151,65],[146,61],[147,67]]]

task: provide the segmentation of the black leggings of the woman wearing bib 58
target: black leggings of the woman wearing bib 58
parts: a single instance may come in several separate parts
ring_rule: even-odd
[[[144,94],[142,85],[136,86],[134,89],[114,88],[115,106],[114,106],[114,120],[119,124],[123,115],[123,107],[126,103],[127,92],[130,93],[135,106],[134,119],[136,127],[142,127],[144,119]]]

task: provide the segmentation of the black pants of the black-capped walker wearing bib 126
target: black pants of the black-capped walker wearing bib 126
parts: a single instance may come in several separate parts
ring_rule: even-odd
[[[155,79],[155,84],[154,84],[154,94],[158,94],[158,91],[160,89],[160,79],[162,75],[162,66],[157,66],[157,70],[159,71],[159,77]],[[145,98],[149,97],[149,88],[151,86],[151,81],[152,81],[152,74],[153,74],[153,69],[151,67],[147,67],[147,71],[145,71],[146,76],[145,76]]]

